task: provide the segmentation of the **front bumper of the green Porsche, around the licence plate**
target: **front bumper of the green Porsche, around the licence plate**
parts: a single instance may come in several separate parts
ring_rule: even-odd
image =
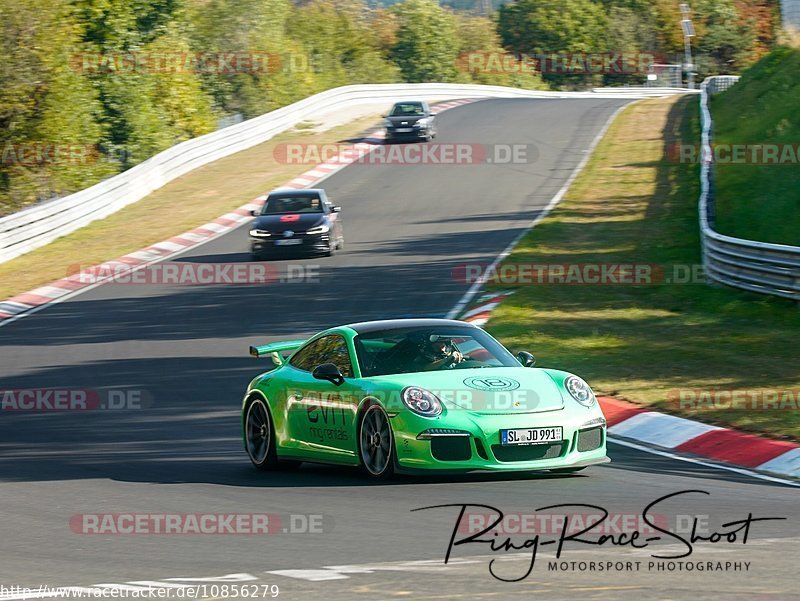
[[[401,472],[427,470],[533,471],[608,463],[606,424],[600,409],[519,415],[451,411],[429,419],[398,413],[391,419]],[[501,445],[500,430],[561,426],[563,439],[548,444]]]

